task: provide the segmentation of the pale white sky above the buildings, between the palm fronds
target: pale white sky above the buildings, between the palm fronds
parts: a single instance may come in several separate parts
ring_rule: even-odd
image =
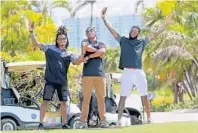
[[[70,4],[75,7],[77,0],[69,0]],[[100,17],[103,7],[108,7],[108,16],[130,15],[135,14],[135,3],[137,0],[97,0],[93,6],[93,15]],[[144,0],[145,7],[154,7],[156,0]],[[76,13],[76,18],[90,16],[90,5],[87,5]],[[62,19],[70,18],[69,12],[63,8],[56,8],[52,11],[53,20],[57,25],[61,25]]]

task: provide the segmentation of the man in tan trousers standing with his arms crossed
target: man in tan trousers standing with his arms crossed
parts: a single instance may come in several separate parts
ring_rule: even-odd
[[[100,116],[99,125],[105,128],[108,127],[108,125],[105,117],[105,72],[102,58],[105,54],[106,46],[97,40],[94,27],[88,27],[85,33],[87,39],[82,41],[82,54],[85,57],[82,78],[82,126],[83,128],[87,128],[89,103],[92,89],[95,89]]]

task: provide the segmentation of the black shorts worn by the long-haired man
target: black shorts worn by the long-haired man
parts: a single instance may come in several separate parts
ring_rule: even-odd
[[[45,83],[43,100],[51,101],[57,90],[59,101],[67,101],[68,87],[67,85],[56,84],[52,82]]]

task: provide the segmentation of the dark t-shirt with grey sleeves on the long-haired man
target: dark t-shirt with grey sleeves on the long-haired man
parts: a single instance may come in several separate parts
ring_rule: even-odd
[[[45,80],[61,85],[67,85],[67,71],[70,62],[77,59],[66,49],[60,50],[56,45],[41,44],[41,50],[45,52],[46,69]]]

